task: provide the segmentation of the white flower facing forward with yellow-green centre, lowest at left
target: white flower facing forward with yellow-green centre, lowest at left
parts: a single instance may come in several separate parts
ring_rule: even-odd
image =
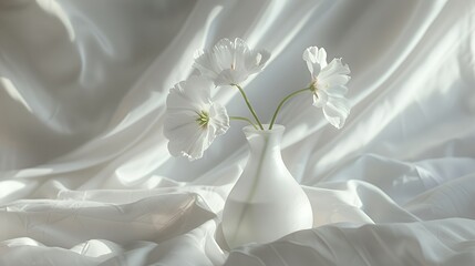
[[[164,135],[173,156],[200,158],[216,136],[229,129],[226,109],[213,102],[214,84],[204,76],[190,76],[176,84],[166,100]]]

